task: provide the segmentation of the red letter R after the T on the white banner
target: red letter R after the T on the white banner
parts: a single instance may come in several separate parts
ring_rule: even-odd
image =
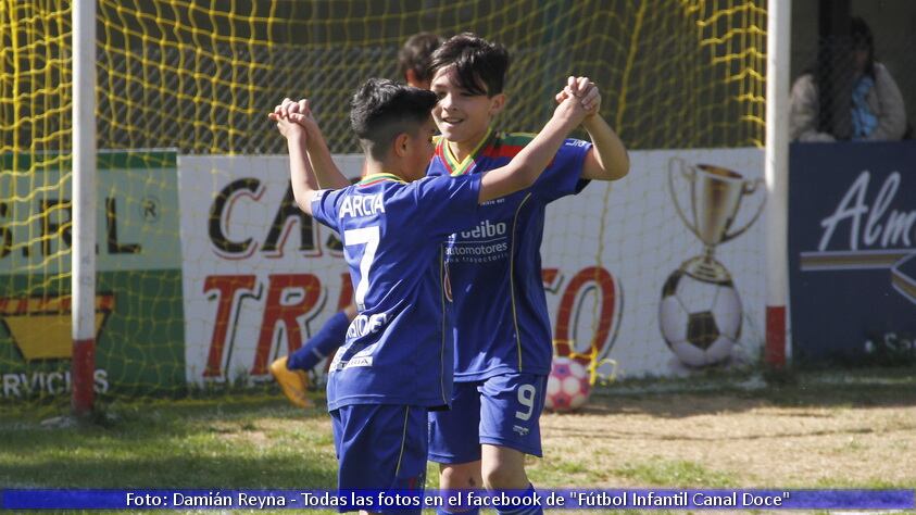
[[[294,304],[281,304],[284,293],[290,288],[301,288],[305,291],[302,299]],[[287,349],[290,353],[302,347],[302,331],[296,321],[300,316],[310,314],[322,298],[322,282],[312,274],[275,274],[271,275],[271,286],[267,289],[267,305],[264,307],[264,319],[261,322],[261,334],[258,337],[258,349],[254,352],[252,376],[267,374],[267,359],[269,357],[274,331],[277,322],[283,322],[287,332]]]

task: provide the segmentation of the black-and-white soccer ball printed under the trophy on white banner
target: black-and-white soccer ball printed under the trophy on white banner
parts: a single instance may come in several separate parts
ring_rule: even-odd
[[[681,267],[662,288],[658,325],[685,365],[713,365],[731,355],[741,336],[741,299],[731,280],[701,280]]]

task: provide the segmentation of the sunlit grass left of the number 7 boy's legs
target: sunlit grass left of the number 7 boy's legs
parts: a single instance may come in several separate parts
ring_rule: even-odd
[[[303,416],[277,398],[111,406],[101,420],[72,427],[11,422],[0,424],[0,485],[8,487],[294,489],[336,482],[326,415]]]

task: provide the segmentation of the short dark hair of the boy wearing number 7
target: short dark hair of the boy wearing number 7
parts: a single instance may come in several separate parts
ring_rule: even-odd
[[[416,134],[429,120],[436,101],[436,93],[427,89],[371,78],[350,100],[350,127],[363,150],[381,161],[399,134]]]

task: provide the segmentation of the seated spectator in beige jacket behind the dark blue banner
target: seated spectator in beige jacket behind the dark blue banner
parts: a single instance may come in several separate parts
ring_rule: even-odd
[[[858,16],[851,20],[850,53],[832,60],[833,63],[849,63],[849,71],[829,70],[836,80],[851,79],[846,102],[836,102],[837,109],[824,109],[820,95],[830,85],[821,87],[819,80],[827,75],[808,70],[792,85],[789,131],[793,141],[900,140],[906,131],[906,110],[903,96],[888,68],[875,61],[875,39],[871,29]],[[823,56],[818,65],[828,61]],[[848,73],[850,76],[843,76]],[[832,91],[843,89],[833,88]],[[844,95],[843,95],[844,96]],[[827,102],[827,105],[830,103]],[[842,115],[838,110],[849,106],[850,120],[846,129],[839,128],[833,117]]]

